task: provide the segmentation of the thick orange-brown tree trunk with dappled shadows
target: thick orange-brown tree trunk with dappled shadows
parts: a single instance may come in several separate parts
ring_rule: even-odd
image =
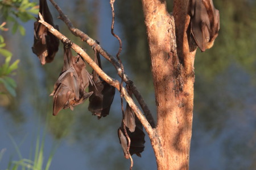
[[[174,1],[172,16],[165,1],[142,0],[158,115],[155,131],[160,146],[152,143],[158,169],[189,165],[195,50],[189,52],[186,34],[188,2]]]

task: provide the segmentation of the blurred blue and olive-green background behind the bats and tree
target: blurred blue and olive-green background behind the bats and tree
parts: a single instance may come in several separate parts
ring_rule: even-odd
[[[56,2],[75,27],[98,40],[115,56],[119,44],[110,32],[109,1]],[[50,2],[48,6],[60,32],[93,56],[92,49],[57,19]],[[198,49],[196,53],[189,166],[190,169],[256,169],[256,2],[215,0],[214,6],[220,11],[218,38],[213,48],[203,53]],[[171,12],[171,1],[167,1],[167,7]],[[152,113],[156,113],[141,1],[116,1],[115,13],[115,32],[124,44],[121,59],[125,71]],[[2,9],[0,15],[1,24],[6,21]],[[15,22],[7,22],[5,27],[10,30],[0,32],[5,49],[13,53],[10,62],[19,60],[15,75],[10,75],[16,81],[15,92],[3,84],[0,86],[0,169],[10,169],[15,161],[40,156],[42,167],[52,160],[49,169],[129,169],[130,160],[123,156],[117,136],[122,119],[118,92],[110,115],[100,120],[88,111],[88,101],[74,111],[61,110],[57,117],[52,116],[49,94],[63,65],[63,45],[60,44],[52,63],[40,65],[31,50],[34,21],[18,20],[26,30],[24,36],[22,28],[12,34]],[[0,53],[1,65],[5,58]],[[113,66],[103,58],[102,65],[106,73],[119,80]],[[89,67],[88,70],[92,71]],[[147,136],[145,146],[141,158],[133,156],[134,169],[156,169]]]

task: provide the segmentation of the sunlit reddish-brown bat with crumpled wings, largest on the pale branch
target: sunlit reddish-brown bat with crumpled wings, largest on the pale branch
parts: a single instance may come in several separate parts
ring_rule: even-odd
[[[64,47],[63,69],[50,94],[53,96],[53,115],[57,115],[61,109],[73,110],[73,106],[83,103],[92,95],[93,92],[85,92],[89,82],[93,84],[85,67],[81,56],[72,57],[71,49]]]

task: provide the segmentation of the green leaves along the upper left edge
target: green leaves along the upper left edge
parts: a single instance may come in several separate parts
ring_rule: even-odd
[[[8,28],[4,26],[7,24],[13,24],[11,29],[12,34],[15,34],[19,30],[20,35],[26,35],[25,28],[19,24],[19,20],[22,22],[27,22],[30,19],[35,19],[32,14],[38,13],[38,6],[35,2],[29,2],[28,0],[0,0],[0,18],[6,20],[6,22],[0,23],[1,31],[8,31]],[[6,43],[5,39],[0,33],[0,55],[5,57],[5,63],[0,65],[0,84],[5,86],[7,92],[12,96],[16,96],[15,88],[16,82],[10,76],[15,74],[15,70],[18,68],[19,60],[15,60],[10,63],[12,53],[5,49]],[[2,90],[0,93],[3,93]]]

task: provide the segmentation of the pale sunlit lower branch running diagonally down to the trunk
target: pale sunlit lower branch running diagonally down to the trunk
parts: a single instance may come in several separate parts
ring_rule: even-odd
[[[50,24],[44,21],[43,16],[39,13],[40,20],[38,22],[42,23],[44,26],[46,26],[54,36],[56,36],[58,39],[60,39],[62,42],[65,42],[68,38],[61,34],[59,31],[57,31],[55,28],[53,28]],[[90,58],[90,56],[81,48],[79,45],[73,43],[71,48],[78,53],[89,65],[94,69],[94,71],[97,72],[97,74],[108,84],[114,86],[117,88],[117,90],[120,91],[119,81],[114,80],[113,78],[109,77],[108,74],[106,74],[94,61]],[[134,113],[138,117],[139,121],[141,121],[142,125],[144,126],[145,130],[147,131],[147,134],[151,141],[155,141],[155,131],[151,127],[150,123],[148,123],[147,119],[142,114],[141,110],[139,110],[138,106],[135,105],[133,99],[129,96],[128,92],[125,88],[122,87],[123,97],[126,99],[127,103],[133,109]]]

